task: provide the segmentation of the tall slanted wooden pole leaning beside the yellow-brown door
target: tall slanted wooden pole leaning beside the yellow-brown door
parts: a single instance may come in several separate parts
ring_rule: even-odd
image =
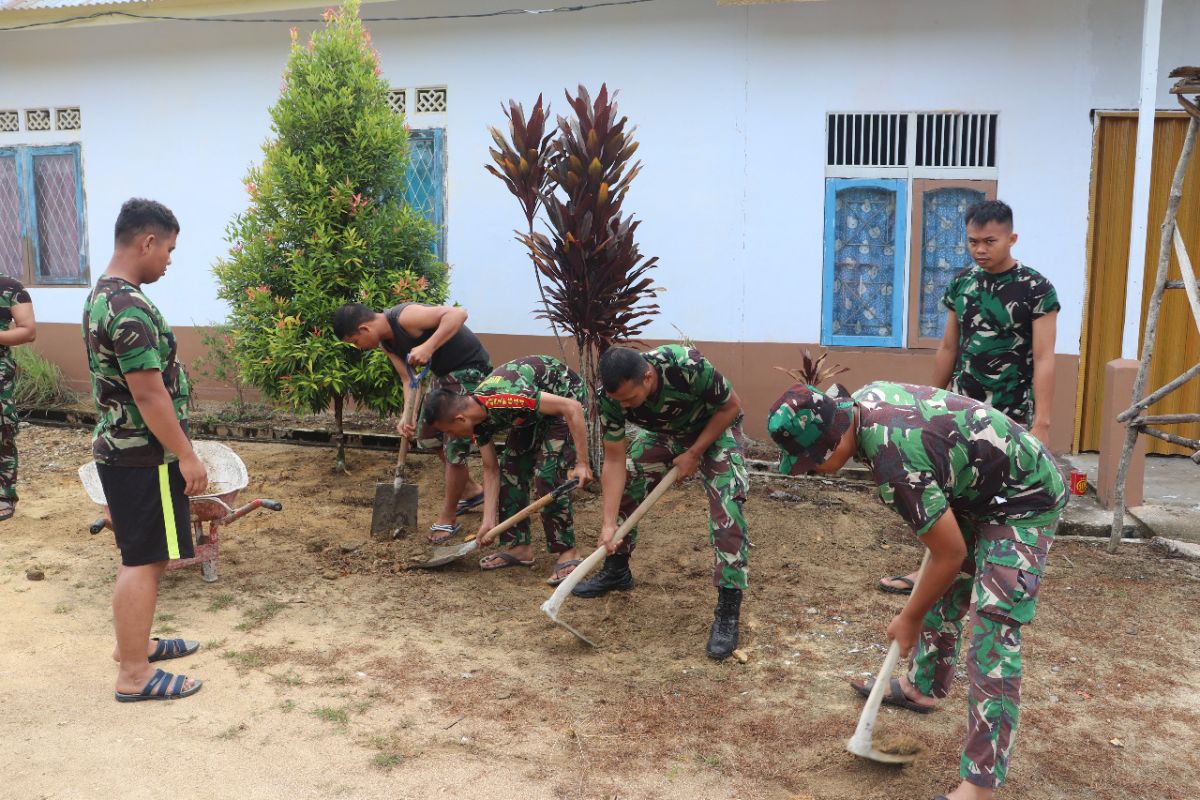
[[[1146,331],[1142,336],[1141,360],[1138,363],[1138,375],[1133,381],[1133,404],[1142,398],[1146,391],[1146,378],[1150,374],[1150,360],[1154,355],[1154,341],[1158,336],[1158,311],[1163,303],[1163,289],[1166,284],[1168,267],[1171,263],[1171,242],[1175,234],[1175,218],[1180,212],[1180,201],[1183,199],[1183,179],[1187,175],[1188,162],[1192,161],[1192,150],[1195,148],[1196,128],[1200,127],[1196,118],[1188,120],[1188,132],[1183,138],[1183,150],[1180,160],[1175,164],[1175,176],[1171,179],[1171,192],[1166,199],[1166,213],[1163,217],[1163,234],[1158,245],[1158,273],[1154,277],[1154,291],[1150,296],[1150,306],[1146,308]],[[1141,269],[1141,264],[1129,263],[1129,269]],[[1117,465],[1116,497],[1112,504],[1112,530],[1109,534],[1109,553],[1116,553],[1121,543],[1121,531],[1124,524],[1124,483],[1129,471],[1129,461],[1133,456],[1134,445],[1138,444],[1138,426],[1126,427],[1124,446],[1121,449],[1121,462]]]

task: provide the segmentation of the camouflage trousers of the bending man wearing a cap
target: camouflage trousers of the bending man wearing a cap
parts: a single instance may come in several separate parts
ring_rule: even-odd
[[[967,742],[959,774],[984,788],[1004,782],[1021,705],[1021,627],[1033,620],[1058,510],[1012,524],[960,518],[968,555],[960,575],[925,614],[908,680],[920,693],[949,694],[971,610],[967,648]],[[973,551],[973,553],[972,553]]]

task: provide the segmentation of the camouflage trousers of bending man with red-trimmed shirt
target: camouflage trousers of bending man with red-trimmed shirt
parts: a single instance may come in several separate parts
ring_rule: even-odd
[[[512,431],[508,435],[500,458],[500,521],[508,519],[530,503],[529,488],[538,497],[552,492],[566,481],[575,469],[575,441],[560,416],[540,416],[534,426]],[[541,528],[546,534],[546,549],[565,553],[575,547],[574,506],[570,493],[541,510]],[[500,545],[529,545],[529,518],[500,534]]]

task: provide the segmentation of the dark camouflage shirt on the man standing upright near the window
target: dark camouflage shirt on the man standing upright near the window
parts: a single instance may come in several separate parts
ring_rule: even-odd
[[[1024,264],[1000,275],[971,266],[946,287],[942,305],[959,319],[950,389],[1032,422],[1033,320],[1058,311],[1054,285]]]

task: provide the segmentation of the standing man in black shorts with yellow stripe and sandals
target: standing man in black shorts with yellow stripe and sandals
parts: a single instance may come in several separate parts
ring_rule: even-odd
[[[193,555],[187,498],[208,486],[187,438],[187,374],[175,336],[142,293],[166,275],[178,236],[179,222],[164,205],[127,200],[116,217],[113,258],[83,309],[98,408],[91,451],[121,551],[113,590],[121,703],[200,690],[199,680],[150,664],[199,649],[197,642],[150,638],[167,561]]]

